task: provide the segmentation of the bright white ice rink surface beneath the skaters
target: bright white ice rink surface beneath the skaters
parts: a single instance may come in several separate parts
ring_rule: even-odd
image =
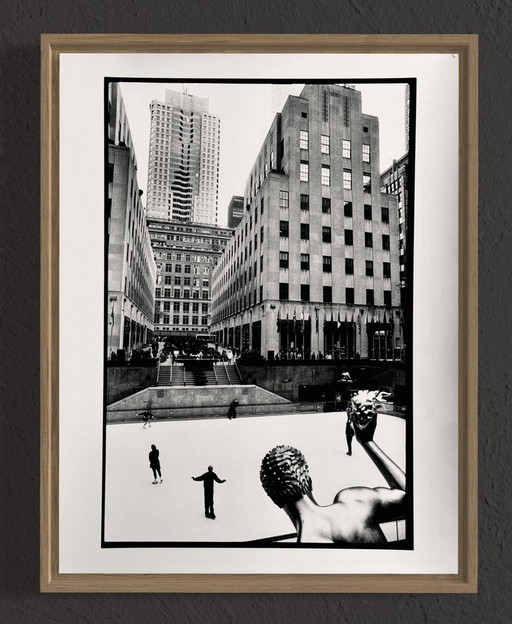
[[[344,412],[112,424],[106,432],[107,542],[244,542],[294,533],[259,480],[263,456],[290,444],[306,456],[318,504],[351,486],[387,487],[354,438],[346,455]],[[375,441],[405,469],[405,421],[379,415]],[[160,450],[162,484],[153,485],[148,453]],[[192,481],[212,464],[215,514],[204,516],[203,484]]]

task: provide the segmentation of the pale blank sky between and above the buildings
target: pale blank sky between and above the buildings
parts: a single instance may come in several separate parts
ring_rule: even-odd
[[[355,83],[353,83],[355,84]],[[302,85],[286,85],[298,95]],[[380,125],[380,170],[405,153],[405,84],[356,84],[362,93],[363,113]],[[271,84],[126,82],[121,91],[138,164],[139,188],[147,189],[150,112],[152,100],[165,101],[165,90],[207,97],[210,113],[220,118],[219,226],[227,224],[233,195],[243,195],[247,176],[274,118]],[[275,90],[274,90],[275,91]],[[283,101],[284,104],[284,101]],[[145,202],[144,202],[145,203]]]

